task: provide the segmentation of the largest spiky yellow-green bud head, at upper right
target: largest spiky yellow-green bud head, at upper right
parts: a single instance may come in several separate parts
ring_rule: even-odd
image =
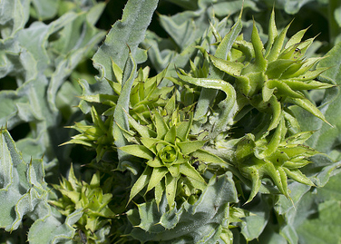
[[[219,70],[235,77],[239,110],[250,104],[260,112],[272,113],[268,131],[278,126],[283,115],[280,111],[286,103],[296,104],[326,122],[323,113],[303,92],[332,87],[332,84],[315,80],[327,68],[310,70],[322,57],[304,57],[307,48],[314,41],[314,38],[301,41],[307,29],[294,34],[285,44],[289,26],[290,24],[278,34],[272,12],[266,48],[254,22],[251,42],[243,40],[243,36],[239,35],[233,44],[234,50],[229,55],[229,60],[209,55],[211,62]]]

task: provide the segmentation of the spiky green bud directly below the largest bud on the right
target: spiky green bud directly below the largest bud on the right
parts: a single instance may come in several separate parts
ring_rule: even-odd
[[[252,133],[248,133],[238,142],[234,164],[252,182],[247,202],[256,196],[264,178],[269,178],[286,197],[289,197],[287,178],[314,186],[299,170],[310,162],[309,157],[318,153],[303,144],[313,132],[298,132],[285,138],[286,133],[287,127],[282,119],[271,136],[256,140]]]

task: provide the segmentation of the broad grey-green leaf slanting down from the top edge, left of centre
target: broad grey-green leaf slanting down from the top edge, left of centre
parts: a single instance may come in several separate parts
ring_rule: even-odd
[[[130,52],[136,63],[145,60],[146,56],[141,55],[138,45],[143,41],[143,36],[151,23],[151,16],[157,4],[157,0],[128,1],[123,10],[122,20],[112,25],[104,44],[93,55],[93,65],[100,72],[98,80],[103,80],[105,77],[115,81],[112,70],[113,62],[123,71],[124,82],[127,78],[126,74],[131,73],[124,69],[126,61],[130,59]]]

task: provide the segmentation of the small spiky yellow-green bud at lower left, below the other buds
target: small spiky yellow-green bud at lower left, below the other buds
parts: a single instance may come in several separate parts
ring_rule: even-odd
[[[111,221],[115,218],[115,213],[109,208],[112,194],[102,191],[111,181],[104,182],[104,185],[100,181],[99,172],[93,175],[90,184],[79,181],[71,167],[68,179],[63,178],[59,185],[53,185],[55,190],[63,194],[58,200],[50,200],[57,210],[64,216],[69,216],[75,210],[83,211],[81,219],[74,227],[80,230],[79,238],[86,239],[87,243],[99,243],[99,239],[109,233]]]

